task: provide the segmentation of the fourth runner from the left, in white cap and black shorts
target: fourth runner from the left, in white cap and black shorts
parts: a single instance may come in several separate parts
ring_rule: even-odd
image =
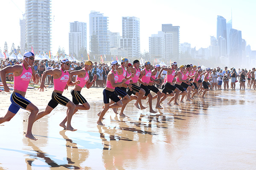
[[[118,72],[116,69],[118,68],[118,62],[117,61],[112,61],[111,62],[111,71],[108,73],[107,76],[107,83],[106,87],[103,90],[103,102],[104,102],[104,107],[103,110],[98,113],[99,119],[97,121],[98,125],[104,125],[102,123],[103,116],[105,113],[108,111],[109,108],[120,108],[122,107],[122,101],[119,99],[119,97],[115,94],[115,87],[118,87],[125,83],[127,80],[122,79],[121,82],[118,82]],[[113,101],[113,104],[109,103],[109,99]]]

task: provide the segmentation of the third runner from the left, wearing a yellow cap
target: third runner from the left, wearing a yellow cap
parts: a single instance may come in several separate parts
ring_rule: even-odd
[[[72,95],[72,102],[76,105],[73,115],[78,110],[90,109],[89,103],[86,101],[86,99],[84,99],[84,96],[81,95],[81,90],[84,87],[84,85],[86,85],[86,88],[90,88],[95,82],[95,80],[97,79],[97,75],[95,74],[93,77],[93,80],[91,82],[89,80],[88,71],[92,69],[92,65],[93,65],[93,62],[91,62],[90,60],[86,60],[84,62],[84,68],[82,68],[81,70],[72,71],[70,73],[70,77],[77,76],[76,82],[72,82],[71,79],[67,81],[68,86],[74,86],[73,89],[70,91]],[[79,103],[81,103],[81,105],[79,105]],[[66,122],[67,122],[67,116],[61,122],[60,126],[65,128]]]

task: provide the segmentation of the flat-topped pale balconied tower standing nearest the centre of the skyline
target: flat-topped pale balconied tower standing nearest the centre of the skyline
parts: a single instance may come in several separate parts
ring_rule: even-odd
[[[128,57],[140,55],[140,19],[137,17],[122,17],[122,38],[120,47],[128,51]]]

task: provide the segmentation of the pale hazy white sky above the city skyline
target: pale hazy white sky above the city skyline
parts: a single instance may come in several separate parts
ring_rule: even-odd
[[[233,28],[242,31],[242,38],[256,49],[256,10],[253,0],[52,0],[52,54],[58,46],[68,53],[69,23],[87,23],[87,50],[89,51],[89,14],[99,11],[109,17],[108,28],[122,35],[122,17],[140,18],[140,50],[148,51],[148,37],[161,31],[162,24],[180,26],[180,43],[207,48],[210,36],[216,37],[217,15],[227,21],[233,11]],[[25,12],[25,0],[2,0],[0,8],[0,48],[4,42],[9,50],[12,43],[20,45],[19,19]]]

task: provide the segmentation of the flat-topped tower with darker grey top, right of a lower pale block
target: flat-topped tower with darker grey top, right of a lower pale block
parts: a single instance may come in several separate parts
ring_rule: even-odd
[[[165,58],[177,59],[180,57],[180,26],[162,24],[165,34]]]

